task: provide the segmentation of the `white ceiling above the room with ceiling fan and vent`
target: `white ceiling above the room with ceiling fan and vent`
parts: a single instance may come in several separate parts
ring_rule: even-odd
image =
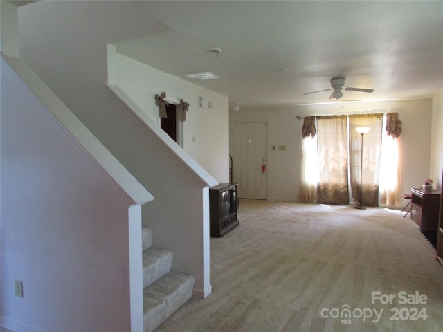
[[[127,16],[116,19],[123,6],[118,2],[120,6],[108,2],[106,15],[129,29]],[[192,82],[242,106],[329,102],[329,91],[303,93],[329,89],[332,77],[345,77],[347,86],[374,89],[345,91],[344,100],[423,98],[443,89],[443,1],[126,4],[161,28],[147,37],[115,42],[118,52],[183,80],[188,80],[183,73],[213,71],[221,79]],[[102,29],[89,16],[83,15],[82,25]],[[213,48],[221,49],[218,58],[209,52]]]

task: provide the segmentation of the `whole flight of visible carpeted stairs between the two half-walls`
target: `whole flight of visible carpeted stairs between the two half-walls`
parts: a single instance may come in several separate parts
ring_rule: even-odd
[[[171,271],[172,252],[151,248],[152,230],[142,228],[143,330],[151,332],[192,297],[194,277]]]

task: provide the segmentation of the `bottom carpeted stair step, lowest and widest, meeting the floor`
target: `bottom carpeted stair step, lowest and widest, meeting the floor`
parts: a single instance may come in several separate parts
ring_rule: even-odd
[[[194,277],[170,272],[143,290],[143,331],[154,331],[192,297]]]

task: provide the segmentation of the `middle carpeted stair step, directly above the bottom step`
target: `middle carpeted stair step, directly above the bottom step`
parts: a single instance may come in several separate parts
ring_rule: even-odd
[[[163,277],[171,270],[172,252],[157,248],[143,251],[143,288]]]

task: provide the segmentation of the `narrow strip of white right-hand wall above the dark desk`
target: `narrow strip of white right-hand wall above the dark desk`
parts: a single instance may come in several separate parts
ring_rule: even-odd
[[[431,138],[431,178],[441,190],[443,172],[443,90],[433,98]]]

